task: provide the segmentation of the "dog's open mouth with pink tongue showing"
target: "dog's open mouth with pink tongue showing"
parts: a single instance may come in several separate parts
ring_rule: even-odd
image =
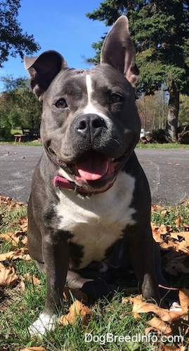
[[[84,192],[109,189],[109,185],[114,183],[117,173],[124,166],[129,154],[129,152],[126,152],[122,157],[115,159],[107,157],[102,152],[91,150],[75,159],[72,164],[65,164],[65,162],[58,159],[53,150],[49,149],[49,151],[51,152],[53,161],[56,161],[56,164],[67,172],[69,175],[68,178],[72,178],[71,183],[74,183],[76,187],[84,190]],[[59,177],[63,176],[59,174]],[[61,186],[60,178],[59,186]]]

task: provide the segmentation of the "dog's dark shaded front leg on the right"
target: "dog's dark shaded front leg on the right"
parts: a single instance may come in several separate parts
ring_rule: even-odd
[[[140,284],[143,297],[160,302],[159,289],[155,274],[154,243],[151,229],[133,230],[128,236],[131,264]]]

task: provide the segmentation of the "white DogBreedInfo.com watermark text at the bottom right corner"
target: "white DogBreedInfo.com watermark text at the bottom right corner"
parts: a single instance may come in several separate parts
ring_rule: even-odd
[[[98,343],[105,345],[105,343],[183,343],[183,336],[161,336],[158,338],[156,335],[148,334],[147,336],[136,333],[133,336],[129,335],[114,335],[107,333],[103,335],[93,335],[92,333],[85,333],[85,343]]]

